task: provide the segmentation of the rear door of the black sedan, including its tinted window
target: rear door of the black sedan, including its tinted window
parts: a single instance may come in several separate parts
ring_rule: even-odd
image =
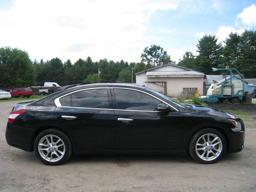
[[[115,115],[107,88],[86,89],[55,99],[55,114],[67,127],[77,148],[113,150]]]

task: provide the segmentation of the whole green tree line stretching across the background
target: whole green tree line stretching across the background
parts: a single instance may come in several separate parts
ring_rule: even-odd
[[[61,86],[75,83],[96,82],[133,82],[135,73],[172,63],[198,70],[204,74],[214,74],[212,68],[223,68],[228,65],[236,68],[246,78],[256,77],[256,33],[245,31],[239,35],[230,33],[225,46],[217,43],[215,35],[205,35],[197,44],[198,56],[186,52],[178,63],[170,59],[170,55],[160,46],[146,47],[141,54],[141,62],[113,61],[100,59],[93,61],[91,57],[78,59],[74,63],[70,59],[62,62],[60,58],[31,61],[26,51],[17,48],[0,48],[0,87],[41,86],[44,82],[58,82]],[[98,78],[98,73],[100,75]]]

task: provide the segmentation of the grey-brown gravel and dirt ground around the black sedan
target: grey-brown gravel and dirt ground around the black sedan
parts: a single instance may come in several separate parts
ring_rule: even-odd
[[[0,191],[256,191],[255,104],[214,105],[247,114],[244,150],[216,164],[174,155],[82,155],[47,166],[34,153],[7,145],[15,103],[0,103]]]

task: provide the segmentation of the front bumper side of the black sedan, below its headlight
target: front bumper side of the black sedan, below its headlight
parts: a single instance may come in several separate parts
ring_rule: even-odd
[[[244,148],[245,131],[229,134],[228,153],[241,152]]]

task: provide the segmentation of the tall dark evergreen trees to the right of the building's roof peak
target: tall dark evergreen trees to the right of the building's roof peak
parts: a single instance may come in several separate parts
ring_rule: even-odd
[[[197,44],[198,56],[186,52],[178,65],[214,74],[213,68],[235,68],[245,78],[256,78],[256,32],[245,31],[241,35],[230,33],[224,41],[217,43],[215,35],[204,35]]]

